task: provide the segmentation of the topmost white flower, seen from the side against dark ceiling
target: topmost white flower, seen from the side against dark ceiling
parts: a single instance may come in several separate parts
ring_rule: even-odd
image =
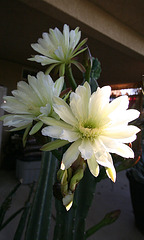
[[[42,65],[51,65],[47,73],[57,65],[60,67],[60,75],[64,75],[65,64],[73,63],[77,67],[80,66],[73,58],[86,48],[80,48],[85,44],[86,39],[81,41],[81,32],[77,27],[75,30],[69,31],[69,26],[64,25],[63,33],[58,28],[50,29],[49,33],[43,33],[42,38],[38,39],[38,43],[31,44],[32,48],[42,55],[35,55],[29,58]]]

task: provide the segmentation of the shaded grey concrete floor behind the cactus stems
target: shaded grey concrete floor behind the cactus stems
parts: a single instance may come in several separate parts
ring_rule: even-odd
[[[17,183],[15,172],[0,171],[0,203]],[[12,206],[7,216],[23,206],[29,192],[27,185],[22,185],[13,198]],[[117,174],[117,181],[113,184],[109,179],[97,185],[93,204],[87,218],[87,228],[98,223],[106,213],[120,209],[119,219],[106,227],[101,228],[89,240],[143,240],[142,235],[135,227],[131,205],[129,182],[125,172]],[[7,217],[6,216],[6,217]],[[13,236],[20,216],[16,217],[0,232],[0,240],[13,240]],[[50,239],[52,240],[52,238]]]

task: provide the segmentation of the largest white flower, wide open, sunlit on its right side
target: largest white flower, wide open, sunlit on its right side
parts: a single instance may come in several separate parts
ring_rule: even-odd
[[[44,122],[51,125],[42,134],[67,140],[72,144],[64,153],[61,169],[68,169],[79,154],[87,160],[94,176],[99,174],[99,165],[113,181],[116,172],[110,153],[125,158],[133,158],[132,149],[125,143],[136,139],[139,128],[128,123],[139,116],[139,111],[128,108],[128,97],[121,96],[109,103],[111,88],[98,88],[91,95],[87,82],[78,86],[70,95],[70,106],[60,98],[55,98],[54,110],[62,120],[52,123],[50,118]]]

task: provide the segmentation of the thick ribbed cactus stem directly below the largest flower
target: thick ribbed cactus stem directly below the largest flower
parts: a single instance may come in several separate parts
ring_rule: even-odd
[[[85,220],[91,206],[96,187],[96,178],[85,171],[74,193],[73,206],[66,211],[61,201],[56,200],[56,226],[53,240],[84,240]]]

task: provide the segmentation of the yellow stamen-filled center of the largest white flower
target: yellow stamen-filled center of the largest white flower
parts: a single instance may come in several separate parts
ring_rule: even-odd
[[[84,125],[79,125],[79,132],[81,134],[81,138],[94,140],[100,135],[101,129],[95,127],[93,124],[85,123]]]

